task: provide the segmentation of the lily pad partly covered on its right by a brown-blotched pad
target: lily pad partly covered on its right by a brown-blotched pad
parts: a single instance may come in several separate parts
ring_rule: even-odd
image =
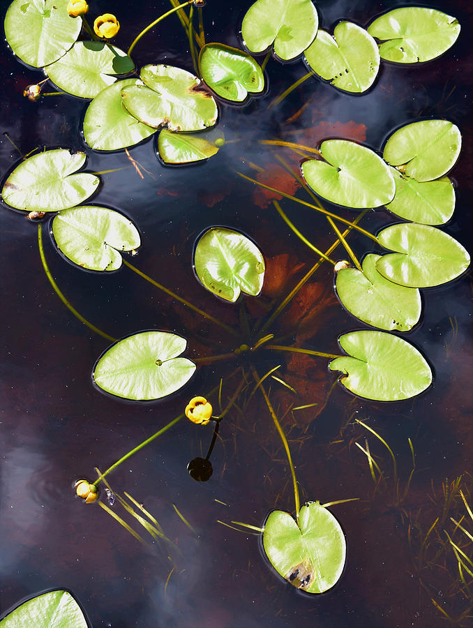
[[[121,104],[121,90],[137,82],[137,79],[117,81],[100,91],[87,107],[84,137],[91,148],[117,151],[133,146],[156,132],[156,129],[131,116]]]

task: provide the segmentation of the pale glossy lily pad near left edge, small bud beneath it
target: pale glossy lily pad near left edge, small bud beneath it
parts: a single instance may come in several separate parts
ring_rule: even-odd
[[[100,183],[95,174],[72,174],[85,158],[85,153],[54,149],[25,159],[6,180],[3,200],[25,211],[61,211],[82,203]]]

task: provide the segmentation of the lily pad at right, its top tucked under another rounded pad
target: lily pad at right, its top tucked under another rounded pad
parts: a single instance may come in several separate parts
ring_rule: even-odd
[[[443,225],[455,209],[455,189],[449,177],[435,181],[416,181],[391,168],[396,195],[386,209],[396,216],[423,225]]]

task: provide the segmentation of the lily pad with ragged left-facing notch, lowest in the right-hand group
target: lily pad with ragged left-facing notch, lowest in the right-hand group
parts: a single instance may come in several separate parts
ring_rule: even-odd
[[[348,355],[329,364],[345,373],[340,382],[355,395],[375,401],[409,399],[428,388],[432,371],[410,343],[386,331],[350,331],[340,336]]]

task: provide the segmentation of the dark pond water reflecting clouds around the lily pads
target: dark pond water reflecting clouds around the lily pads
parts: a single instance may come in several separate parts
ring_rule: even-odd
[[[210,0],[204,8],[207,41],[238,46],[241,18],[249,4]],[[340,18],[366,26],[378,13],[402,5],[393,0],[355,4],[321,0],[317,10],[322,27],[329,29]],[[1,6],[3,16],[8,3]],[[169,6],[165,1],[140,0],[131,6],[110,6],[100,0],[91,2],[91,14],[116,13],[121,22],[117,45],[126,50],[136,34]],[[394,128],[419,117],[446,117],[460,127],[463,151],[452,173],[456,212],[442,228],[467,245],[472,8],[466,0],[432,6],[455,15],[462,24],[456,45],[441,59],[421,67],[382,63],[375,87],[359,97],[313,78],[280,105],[269,107],[307,71],[300,61],[283,66],[271,60],[264,97],[245,106],[220,105],[219,128],[227,144],[217,156],[194,167],[163,167],[151,138],[130,149],[143,179],[123,151],[98,154],[84,144],[80,135],[84,101],[54,96],[30,103],[22,98],[24,88],[40,80],[40,72],[20,64],[3,44],[0,173],[20,158],[6,133],[22,154],[35,147],[71,147],[86,151],[92,172],[128,166],[103,175],[94,202],[116,207],[140,228],[142,247],[133,264],[238,329],[239,307],[213,299],[193,276],[191,255],[202,230],[211,225],[236,228],[264,252],[268,262],[264,294],[253,301],[244,299],[252,325],[314,264],[313,253],[287,229],[264,194],[236,174],[240,170],[276,188],[291,188],[292,180],[276,155],[295,164],[294,154],[272,151],[258,140],[279,138],[315,146],[326,137],[344,137],[380,150]],[[165,61],[192,69],[188,40],[177,17],[148,33],[135,50],[135,60],[138,66]],[[303,190],[298,194],[303,197]],[[316,246],[323,250],[330,246],[335,236],[324,219],[289,200],[282,203]],[[325,205],[340,215],[356,216]],[[79,597],[96,628],[441,627],[442,614],[431,599],[454,618],[467,613],[472,599],[468,601],[458,581],[453,553],[442,545],[443,530],[451,530],[449,517],[458,521],[465,509],[458,492],[444,508],[442,483],[450,486],[461,475],[463,494],[471,495],[470,275],[423,290],[422,322],[407,337],[430,361],[435,381],[413,400],[375,403],[350,396],[337,385],[324,406],[335,379],[326,360],[266,352],[255,364],[260,375],[280,364],[280,377],[297,391],[294,395],[271,382],[271,400],[290,441],[302,499],[324,503],[360,498],[332,509],[347,536],[343,577],[330,592],[310,596],[277,576],[257,536],[218,523],[236,520],[261,526],[271,509],[294,509],[284,450],[257,394],[245,408],[241,401],[239,411],[225,417],[211,456],[209,482],[195,482],[186,467],[195,456],[205,456],[211,426],[197,428],[189,421],[179,422],[110,474],[112,488],[127,491],[144,504],[177,545],[179,552],[172,551],[172,560],[166,547],[140,545],[98,506],[85,506],[74,498],[71,486],[77,477],[94,478],[94,467],[105,470],[180,414],[190,397],[216,386],[220,377],[223,396],[230,397],[239,383],[236,377],[228,379],[236,365],[201,366],[185,389],[160,403],[124,403],[100,394],[92,387],[91,369],[109,342],[84,327],[54,294],[41,267],[37,226],[6,207],[0,208],[0,218],[0,611],[24,596],[63,586]],[[363,218],[362,224],[376,232],[392,221],[387,211],[380,210]],[[121,338],[141,329],[176,331],[188,338],[190,357],[238,346],[236,339],[174,306],[129,269],[107,276],[80,271],[57,255],[46,226],[43,236],[47,263],[59,287],[77,311],[107,334]],[[371,250],[366,239],[350,236],[350,242],[360,257]],[[345,257],[341,248],[333,255]],[[333,296],[333,273],[324,264],[271,331],[285,336],[287,343],[296,338],[299,345],[336,353],[340,334],[362,328]],[[288,412],[291,405],[310,403],[318,405]],[[416,471],[402,503],[396,504],[389,454],[354,422],[356,418],[368,421],[396,452],[401,495],[412,469],[407,441],[412,439]],[[377,491],[366,456],[354,444],[365,447],[366,436],[386,474],[386,485],[381,483]],[[179,519],[173,504],[194,532]],[[123,514],[117,503],[114,509]],[[420,564],[421,541],[437,517],[440,521]],[[460,537],[458,541],[464,542]]]

